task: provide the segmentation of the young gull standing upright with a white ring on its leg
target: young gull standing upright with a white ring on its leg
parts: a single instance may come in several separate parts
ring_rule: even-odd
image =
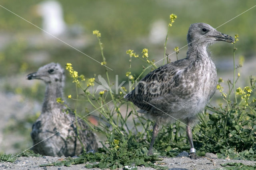
[[[141,113],[156,122],[148,149],[149,155],[152,154],[159,125],[172,123],[176,118],[187,125],[190,158],[196,158],[191,127],[196,124],[196,114],[204,110],[217,85],[216,67],[207,47],[215,41],[234,42],[231,36],[222,34],[205,23],[191,24],[187,40],[186,58],[150,72],[134,90],[124,96],[138,106]]]

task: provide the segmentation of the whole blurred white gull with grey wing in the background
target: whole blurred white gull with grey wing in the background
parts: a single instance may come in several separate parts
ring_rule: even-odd
[[[56,44],[55,38],[53,37],[55,36],[75,48],[84,48],[88,45],[89,41],[87,41],[88,37],[84,34],[84,27],[79,24],[68,26],[64,21],[64,14],[60,2],[57,0],[45,0],[35,7],[36,14],[42,17],[42,29],[50,34],[44,32],[45,36],[43,38],[34,38],[31,40],[35,44],[37,44],[35,41],[45,43],[46,39],[47,44],[51,43],[48,40],[54,40],[54,44]],[[63,42],[60,43],[63,44]]]

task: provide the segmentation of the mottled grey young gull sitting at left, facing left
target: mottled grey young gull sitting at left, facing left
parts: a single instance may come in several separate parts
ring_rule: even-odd
[[[76,123],[72,124],[76,121],[75,115],[64,104],[56,102],[56,98],[63,100],[64,69],[60,64],[50,63],[40,67],[37,72],[28,74],[27,79],[40,79],[46,83],[42,113],[32,126],[31,137],[34,145],[36,144],[32,150],[48,156],[81,154],[83,149],[76,137],[77,126]],[[79,136],[85,150],[97,150],[98,144],[94,133],[88,130],[88,126],[83,120],[78,121],[78,126]],[[58,132],[59,130],[61,131]],[[54,135],[51,136],[52,134]],[[51,137],[48,138],[49,136]]]

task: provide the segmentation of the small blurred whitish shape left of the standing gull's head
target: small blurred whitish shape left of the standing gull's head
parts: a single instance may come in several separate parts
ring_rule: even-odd
[[[149,41],[152,44],[163,44],[167,34],[168,24],[164,20],[156,20],[153,22],[149,32]]]

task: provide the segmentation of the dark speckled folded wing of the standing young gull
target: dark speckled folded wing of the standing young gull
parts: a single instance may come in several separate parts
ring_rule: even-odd
[[[157,68],[140,80],[134,90],[126,94],[124,98],[142,110],[149,111],[152,106],[146,102],[170,92],[170,89],[176,84],[175,80],[180,69],[187,66],[188,62],[183,59]]]

